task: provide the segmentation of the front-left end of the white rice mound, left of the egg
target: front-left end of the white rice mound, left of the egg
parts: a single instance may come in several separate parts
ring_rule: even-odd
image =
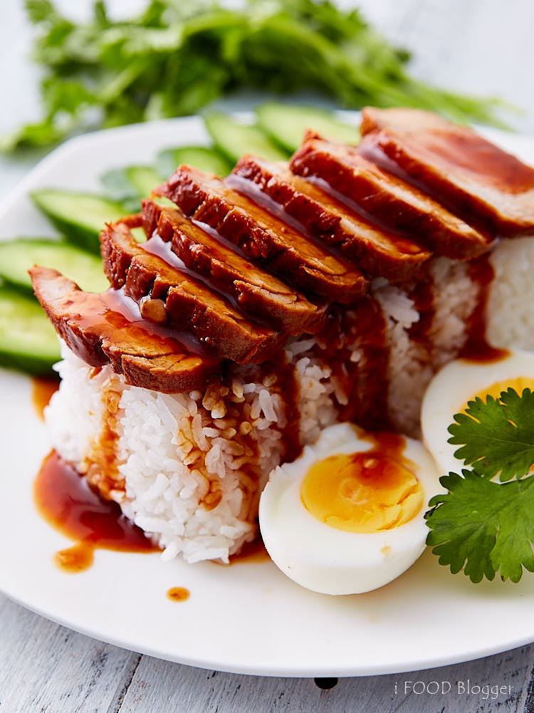
[[[160,394],[128,386],[109,366],[91,378],[95,370],[62,349],[61,387],[46,409],[53,447],[81,473],[98,466],[103,395],[120,394],[115,458],[124,490],[104,490],[153,535],[163,558],[227,561],[255,537],[260,481],[283,453],[285,414],[274,389],[235,379],[231,391]],[[92,404],[90,418],[83,404]]]

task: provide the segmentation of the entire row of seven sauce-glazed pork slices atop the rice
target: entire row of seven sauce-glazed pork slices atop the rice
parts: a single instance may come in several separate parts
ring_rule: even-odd
[[[55,270],[31,270],[58,334],[88,364],[165,393],[203,388],[225,359],[277,361],[287,337],[314,334],[318,358],[345,382],[340,415],[369,421],[357,394],[371,387],[382,414],[393,357],[382,283],[368,292],[370,279],[414,300],[411,339],[430,354],[431,258],[472,260],[497,228],[533,230],[534,169],[423,112],[367,110],[362,129],[358,147],[307,133],[289,168],[249,155],[220,180],[180,166],[154,192],[174,206],[145,200],[142,214],[103,230],[114,289],[81,292]],[[130,229],[141,224],[149,239],[138,244]],[[347,357],[352,369],[339,356],[346,344],[366,352]]]

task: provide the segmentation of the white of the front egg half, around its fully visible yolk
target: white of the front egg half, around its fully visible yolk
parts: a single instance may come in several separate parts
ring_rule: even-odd
[[[403,455],[423,488],[423,507],[409,522],[376,533],[351,533],[326,525],[311,515],[301,499],[302,480],[323,458],[369,451],[364,431],[352,424],[324,429],[293,463],[272,471],[260,498],[260,530],[270,557],[290,579],[314,592],[358,594],[394,580],[419,558],[425,548],[423,515],[428,500],[443,492],[431,456],[418,441],[406,438]]]

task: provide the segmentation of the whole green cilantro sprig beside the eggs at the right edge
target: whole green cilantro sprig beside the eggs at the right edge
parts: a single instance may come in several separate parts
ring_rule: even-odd
[[[534,572],[534,394],[513,389],[498,399],[469,401],[449,426],[455,456],[473,470],[440,479],[448,493],[434,496],[426,513],[426,540],[439,563],[472,582],[518,582]],[[500,483],[491,480],[499,476]],[[513,480],[515,478],[515,480]]]

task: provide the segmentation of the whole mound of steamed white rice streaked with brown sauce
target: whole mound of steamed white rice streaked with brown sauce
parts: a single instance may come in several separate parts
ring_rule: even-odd
[[[534,239],[501,242],[491,261],[488,339],[534,348]],[[466,341],[479,289],[466,264],[446,258],[433,262],[431,279],[430,347],[410,337],[420,315],[409,294],[384,279],[373,284],[390,344],[389,418],[411,435],[429,379]],[[345,349],[349,361],[366,359],[357,337]],[[260,492],[284,456],[287,414],[277,374],[236,366],[222,386],[169,395],[128,386],[110,367],[93,369],[64,346],[62,356],[61,388],[46,409],[53,447],[150,533],[165,560],[226,562],[255,538]],[[337,421],[347,396],[321,357],[320,339],[293,339],[287,356],[299,385],[301,441],[311,443]]]

